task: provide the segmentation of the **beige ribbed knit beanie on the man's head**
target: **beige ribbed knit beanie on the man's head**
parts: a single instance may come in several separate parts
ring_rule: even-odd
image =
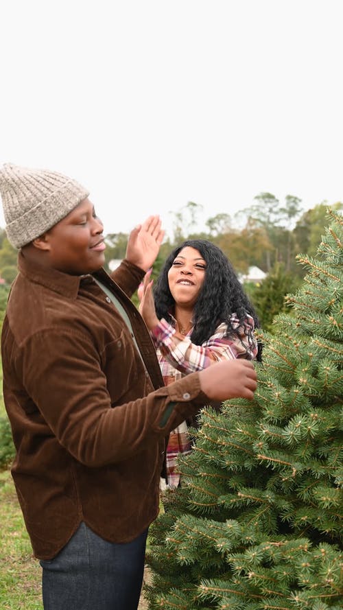
[[[89,192],[75,180],[48,169],[5,163],[0,193],[8,241],[21,248],[62,220]]]

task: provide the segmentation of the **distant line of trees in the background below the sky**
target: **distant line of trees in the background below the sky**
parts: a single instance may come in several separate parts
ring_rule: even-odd
[[[343,204],[337,202],[331,209],[341,211]],[[163,261],[174,246],[184,239],[210,239],[222,248],[239,274],[246,274],[251,266],[263,270],[267,277],[259,284],[245,284],[254,303],[261,325],[272,329],[274,315],[281,312],[284,297],[294,292],[303,279],[304,269],[296,262],[296,255],[316,254],[321,235],[327,224],[325,202],[303,211],[298,197],[287,195],[281,202],[272,193],[259,193],[252,206],[231,217],[229,213],[218,213],[205,222],[206,231],[198,232],[198,217],[202,206],[188,202],[174,212],[173,235],[167,236],[154,264],[153,277],[161,270]],[[110,261],[123,259],[128,241],[127,233],[108,233],[105,250],[106,268]],[[17,251],[0,228],[0,310],[3,311],[8,289],[16,276]],[[137,296],[133,296],[137,304]]]

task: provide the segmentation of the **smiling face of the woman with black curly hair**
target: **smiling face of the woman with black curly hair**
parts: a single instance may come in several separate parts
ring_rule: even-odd
[[[168,271],[171,295],[177,305],[194,307],[206,275],[206,261],[195,248],[186,246],[175,257]]]

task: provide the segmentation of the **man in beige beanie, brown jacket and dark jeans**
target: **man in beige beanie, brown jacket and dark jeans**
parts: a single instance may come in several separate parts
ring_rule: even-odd
[[[157,216],[134,228],[112,277],[88,191],[6,164],[0,193],[19,248],[1,336],[12,475],[45,610],[136,610],[167,436],[209,400],[252,399],[253,365],[222,362],[163,386],[130,296],[160,248]]]

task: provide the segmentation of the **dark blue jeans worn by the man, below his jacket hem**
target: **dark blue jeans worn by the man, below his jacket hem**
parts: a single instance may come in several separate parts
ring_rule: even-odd
[[[43,567],[45,610],[137,610],[147,530],[126,544],[103,540],[82,523]]]

